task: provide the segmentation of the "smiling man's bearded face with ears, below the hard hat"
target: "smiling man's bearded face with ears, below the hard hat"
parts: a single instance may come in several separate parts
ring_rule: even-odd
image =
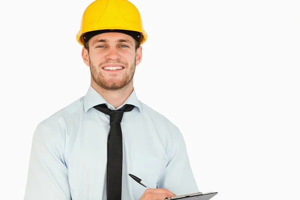
[[[135,51],[130,35],[106,32],[91,37],[88,42],[89,52],[83,48],[82,58],[96,84],[107,90],[132,84],[135,65],[141,60],[141,47]]]

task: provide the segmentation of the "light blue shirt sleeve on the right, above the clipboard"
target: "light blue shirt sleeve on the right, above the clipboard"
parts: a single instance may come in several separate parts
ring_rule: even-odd
[[[159,180],[158,188],[166,188],[176,195],[198,192],[186,146],[179,130],[174,134],[169,145],[169,162]]]

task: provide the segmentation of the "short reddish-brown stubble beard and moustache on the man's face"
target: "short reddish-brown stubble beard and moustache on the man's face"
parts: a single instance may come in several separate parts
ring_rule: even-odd
[[[89,58],[90,60],[90,58]],[[118,64],[122,64],[123,66],[127,67],[128,63],[124,63],[124,62],[101,62],[98,64],[98,66],[96,67],[92,61],[89,61],[89,68],[90,68],[90,74],[92,79],[94,80],[94,82],[99,85],[100,87],[102,87],[103,89],[106,90],[120,90],[124,87],[126,87],[129,82],[132,80],[134,72],[135,72],[135,57],[134,57],[134,62],[132,62],[130,64],[129,70],[123,74],[123,77],[121,80],[115,80],[113,79],[113,76],[115,76],[115,74],[110,74],[110,77],[112,77],[111,79],[107,80],[104,75],[102,74],[101,70],[103,70],[101,68],[101,66],[103,64],[108,64],[108,63],[118,63]]]

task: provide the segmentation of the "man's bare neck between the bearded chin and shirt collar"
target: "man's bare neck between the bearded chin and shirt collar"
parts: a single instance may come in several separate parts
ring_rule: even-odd
[[[119,90],[107,90],[100,87],[95,82],[91,82],[91,87],[96,90],[115,109],[122,105],[133,91],[132,81]]]

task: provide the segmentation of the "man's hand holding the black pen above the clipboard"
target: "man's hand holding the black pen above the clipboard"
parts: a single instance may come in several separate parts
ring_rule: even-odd
[[[175,196],[175,194],[167,189],[146,189],[139,200],[163,200],[170,196]]]

